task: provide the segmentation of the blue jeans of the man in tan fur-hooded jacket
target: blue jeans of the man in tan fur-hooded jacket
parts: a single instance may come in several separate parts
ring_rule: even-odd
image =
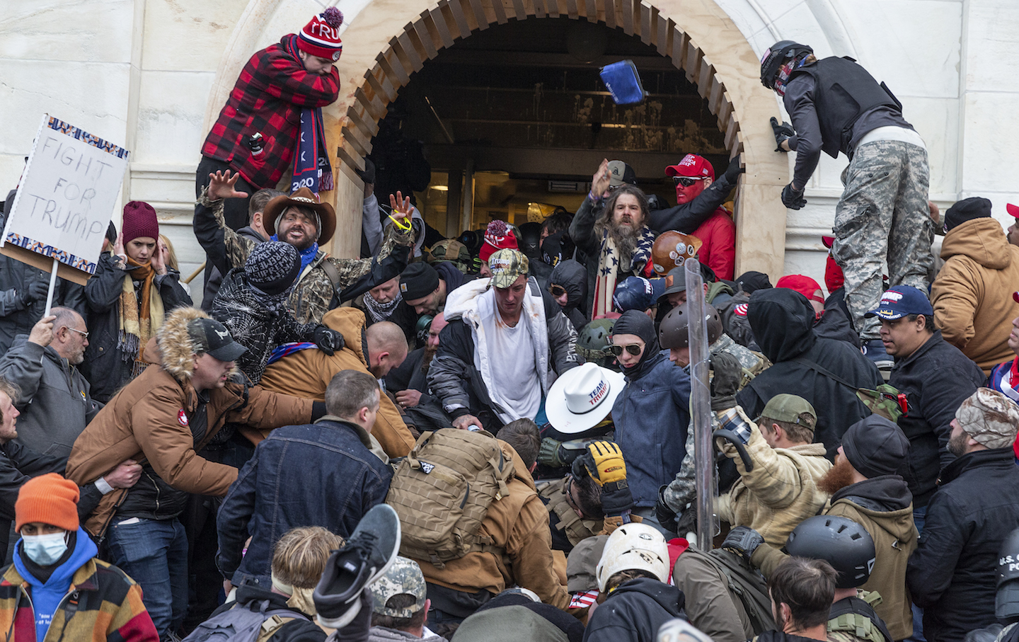
[[[132,522],[132,523],[125,523]],[[187,611],[187,536],[173,520],[121,520],[107,531],[110,554],[142,587],[142,601],[160,639]]]

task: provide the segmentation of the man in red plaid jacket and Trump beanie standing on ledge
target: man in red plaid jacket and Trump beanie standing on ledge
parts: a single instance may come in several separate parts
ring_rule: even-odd
[[[322,107],[339,96],[333,64],[343,50],[342,23],[343,14],[329,7],[301,33],[283,36],[251,57],[202,146],[196,198],[209,185],[210,173],[227,169],[240,174],[234,188],[246,196],[275,189],[290,160],[293,179],[287,193],[332,190]],[[228,200],[224,215],[232,229],[247,225],[248,199]]]

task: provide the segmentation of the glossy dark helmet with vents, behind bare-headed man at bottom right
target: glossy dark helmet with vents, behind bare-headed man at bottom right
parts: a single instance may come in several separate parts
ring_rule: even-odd
[[[823,559],[839,573],[836,588],[863,586],[874,567],[874,540],[853,520],[835,515],[807,518],[789,534],[785,551]]]

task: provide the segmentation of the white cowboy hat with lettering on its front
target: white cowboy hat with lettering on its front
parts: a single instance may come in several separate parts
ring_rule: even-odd
[[[548,390],[545,400],[548,423],[568,435],[594,428],[612,410],[626,384],[623,373],[596,364],[567,370]]]

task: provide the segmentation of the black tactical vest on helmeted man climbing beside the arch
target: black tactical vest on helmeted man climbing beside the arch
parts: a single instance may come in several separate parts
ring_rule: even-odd
[[[814,78],[814,105],[821,127],[821,150],[833,158],[839,152],[852,158],[850,143],[853,124],[874,107],[902,111],[902,105],[883,85],[852,58],[824,58],[793,71],[790,82],[800,73]]]

